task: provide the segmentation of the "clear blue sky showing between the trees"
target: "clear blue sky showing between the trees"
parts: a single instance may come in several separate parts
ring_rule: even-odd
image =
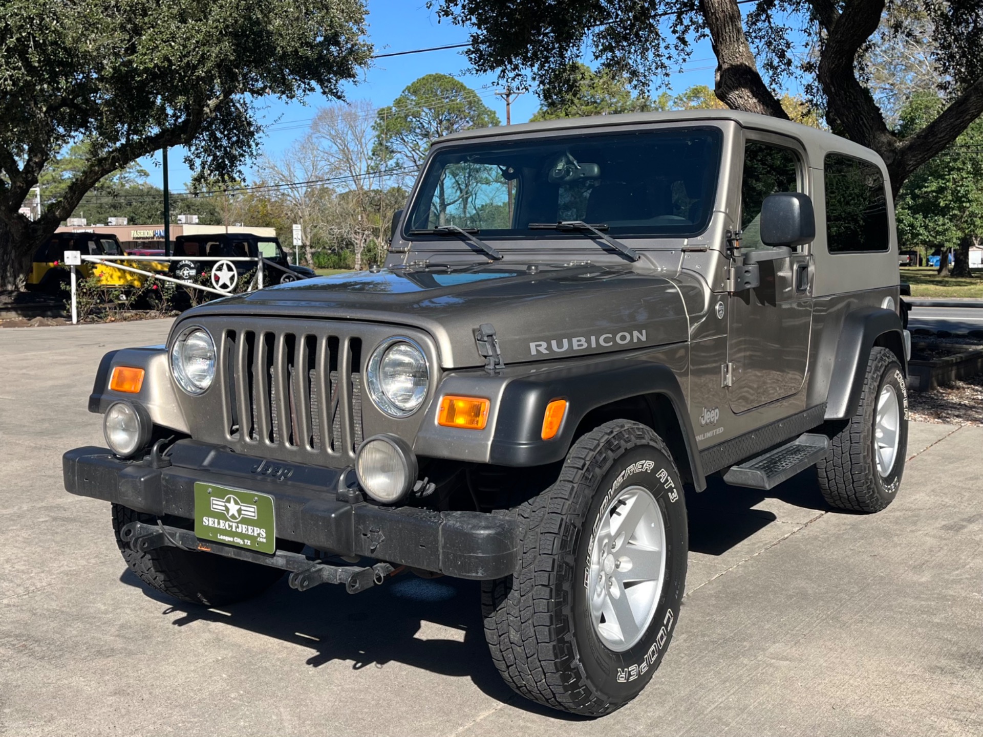
[[[376,53],[445,46],[468,40],[466,28],[446,22],[438,24],[436,15],[427,8],[425,0],[369,0],[368,6],[369,40],[375,45]],[[505,104],[494,95],[494,76],[469,74],[468,62],[461,53],[462,50],[432,51],[378,59],[373,67],[364,72],[358,84],[346,85],[346,97],[352,101],[369,100],[374,107],[382,107],[390,104],[414,80],[426,74],[440,72],[457,77],[465,85],[476,89],[485,104],[494,109],[504,123]],[[591,60],[584,61],[590,63]],[[713,86],[714,65],[709,41],[697,44],[683,73],[673,75],[670,80],[672,90],[679,92],[691,85]],[[266,121],[275,122],[275,125],[263,136],[263,150],[275,156],[292,142],[302,138],[318,107],[328,102],[319,94],[309,97],[306,105],[300,102],[268,100],[268,109],[263,112],[263,116]],[[538,108],[539,99],[535,94],[530,92],[520,96],[512,104],[512,122],[524,123]],[[192,172],[184,163],[183,149],[172,149],[168,154],[168,161],[171,190],[184,190],[186,183],[191,180]],[[157,186],[162,183],[159,162],[159,153],[141,162],[150,174],[150,182]],[[248,168],[247,179],[250,179]]]

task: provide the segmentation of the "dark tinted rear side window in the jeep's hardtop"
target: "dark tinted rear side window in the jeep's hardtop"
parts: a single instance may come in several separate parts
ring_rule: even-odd
[[[888,195],[881,170],[841,153],[826,155],[826,242],[831,254],[887,251]]]

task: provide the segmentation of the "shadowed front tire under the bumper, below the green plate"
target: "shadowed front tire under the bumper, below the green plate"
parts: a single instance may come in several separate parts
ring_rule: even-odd
[[[179,547],[136,552],[120,539],[120,530],[131,522],[154,525],[157,518],[113,504],[113,533],[130,570],[147,586],[182,601],[205,606],[242,601],[260,595],[283,575],[277,568]]]

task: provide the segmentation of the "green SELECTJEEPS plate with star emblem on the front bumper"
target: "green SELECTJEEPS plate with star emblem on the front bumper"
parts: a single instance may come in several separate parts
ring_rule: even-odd
[[[259,552],[276,552],[273,497],[195,482],[195,535]]]

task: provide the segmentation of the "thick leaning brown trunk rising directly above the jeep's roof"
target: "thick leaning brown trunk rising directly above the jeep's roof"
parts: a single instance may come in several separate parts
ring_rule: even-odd
[[[716,93],[728,107],[788,119],[758,72],[736,0],[700,0],[717,56]]]

